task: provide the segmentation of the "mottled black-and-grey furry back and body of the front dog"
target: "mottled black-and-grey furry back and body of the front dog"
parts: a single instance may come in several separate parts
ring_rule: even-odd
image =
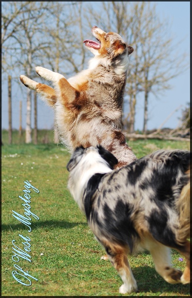
[[[182,249],[190,232],[189,167],[189,151],[159,150],[106,174],[88,222],[94,218],[130,250],[144,232]]]

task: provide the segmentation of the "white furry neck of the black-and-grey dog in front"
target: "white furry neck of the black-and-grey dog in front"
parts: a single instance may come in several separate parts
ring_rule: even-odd
[[[88,181],[96,173],[105,174],[112,171],[101,156],[98,155],[98,158],[93,159],[91,163],[90,160],[92,160],[90,156],[83,156],[82,160],[71,171],[68,181],[68,188],[84,214],[83,195]]]

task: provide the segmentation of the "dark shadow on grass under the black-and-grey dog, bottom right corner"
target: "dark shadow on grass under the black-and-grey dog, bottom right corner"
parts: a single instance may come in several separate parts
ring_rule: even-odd
[[[180,293],[190,295],[190,284],[169,284],[167,283],[154,268],[141,266],[133,269],[134,277],[138,284],[139,292],[155,293]]]

